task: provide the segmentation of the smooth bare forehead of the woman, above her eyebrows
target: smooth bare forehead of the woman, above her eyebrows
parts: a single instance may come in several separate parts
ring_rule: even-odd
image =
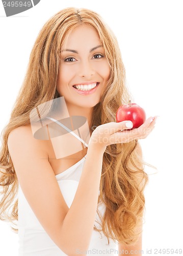
[[[92,26],[82,24],[69,32],[61,48],[91,48],[100,44],[98,32]]]

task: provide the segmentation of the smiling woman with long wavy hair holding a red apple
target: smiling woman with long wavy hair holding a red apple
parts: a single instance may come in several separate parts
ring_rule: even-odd
[[[56,157],[50,137],[33,136],[30,114],[61,98],[69,116],[86,117],[91,137],[88,147]],[[19,234],[19,255],[108,249],[114,255],[116,243],[119,252],[141,249],[148,177],[138,139],[153,130],[156,117],[134,130],[128,120],[116,123],[118,107],[129,99],[117,40],[102,18],[75,8],[51,17],[36,39],[3,134],[0,216],[18,220],[18,229],[12,228]]]

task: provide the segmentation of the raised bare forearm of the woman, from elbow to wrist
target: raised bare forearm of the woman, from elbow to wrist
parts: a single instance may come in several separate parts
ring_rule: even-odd
[[[90,244],[96,217],[98,190],[104,150],[94,144],[88,147],[87,157],[77,191],[64,219],[62,234],[66,248],[86,251]],[[76,253],[75,253],[76,254]]]

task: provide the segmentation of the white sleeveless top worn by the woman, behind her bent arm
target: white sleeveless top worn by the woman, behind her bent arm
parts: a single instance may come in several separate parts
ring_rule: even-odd
[[[85,157],[73,166],[66,169],[63,173],[56,175],[62,195],[70,208],[74,199],[77,186],[80,181]],[[103,215],[105,206],[100,204],[98,210]],[[99,223],[99,217],[96,214],[96,219]],[[101,226],[95,221],[95,226]],[[101,236],[102,234],[102,236]],[[117,244],[110,239],[108,245],[107,237],[101,232],[95,230],[92,232],[90,246],[85,252],[87,255],[115,255],[117,253]],[[45,232],[40,222],[36,218],[28,201],[25,199],[18,186],[18,237],[19,237],[19,256],[62,256],[66,255]],[[116,251],[115,251],[116,250]],[[82,251],[77,251],[80,255]],[[76,252],[76,253],[77,253]]]

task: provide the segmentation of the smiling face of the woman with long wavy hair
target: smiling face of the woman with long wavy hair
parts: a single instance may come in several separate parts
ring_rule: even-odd
[[[101,98],[110,66],[94,28],[81,25],[61,48],[57,90],[70,108],[92,108]]]

